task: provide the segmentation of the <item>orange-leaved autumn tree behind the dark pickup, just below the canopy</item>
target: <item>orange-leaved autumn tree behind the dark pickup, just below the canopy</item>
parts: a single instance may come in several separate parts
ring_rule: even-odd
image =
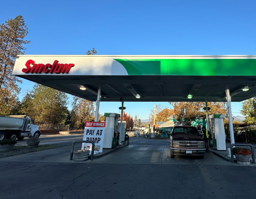
[[[204,102],[169,102],[173,105],[175,119],[185,125],[191,125],[196,118],[206,118],[206,110]],[[225,102],[208,102],[209,115],[214,113],[226,115]]]

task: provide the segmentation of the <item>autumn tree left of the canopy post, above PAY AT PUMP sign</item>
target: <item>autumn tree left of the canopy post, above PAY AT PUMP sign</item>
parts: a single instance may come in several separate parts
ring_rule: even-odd
[[[94,103],[92,101],[73,97],[71,110],[71,127],[74,129],[84,128],[86,121],[94,121]]]

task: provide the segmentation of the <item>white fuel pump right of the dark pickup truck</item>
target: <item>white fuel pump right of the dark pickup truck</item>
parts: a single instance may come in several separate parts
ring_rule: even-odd
[[[224,118],[225,115],[223,114],[209,116],[212,125],[213,149],[218,151],[226,150]]]

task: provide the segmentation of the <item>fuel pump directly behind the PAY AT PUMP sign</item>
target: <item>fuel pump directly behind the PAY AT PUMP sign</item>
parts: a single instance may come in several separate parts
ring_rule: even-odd
[[[104,134],[103,148],[111,149],[119,145],[119,129],[118,119],[120,114],[118,113],[105,113],[106,127]]]

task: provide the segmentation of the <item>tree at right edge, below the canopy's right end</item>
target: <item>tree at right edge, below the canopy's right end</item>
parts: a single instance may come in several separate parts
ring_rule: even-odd
[[[242,110],[240,111],[245,116],[243,122],[248,124],[256,124],[256,97],[250,98],[242,102]]]

